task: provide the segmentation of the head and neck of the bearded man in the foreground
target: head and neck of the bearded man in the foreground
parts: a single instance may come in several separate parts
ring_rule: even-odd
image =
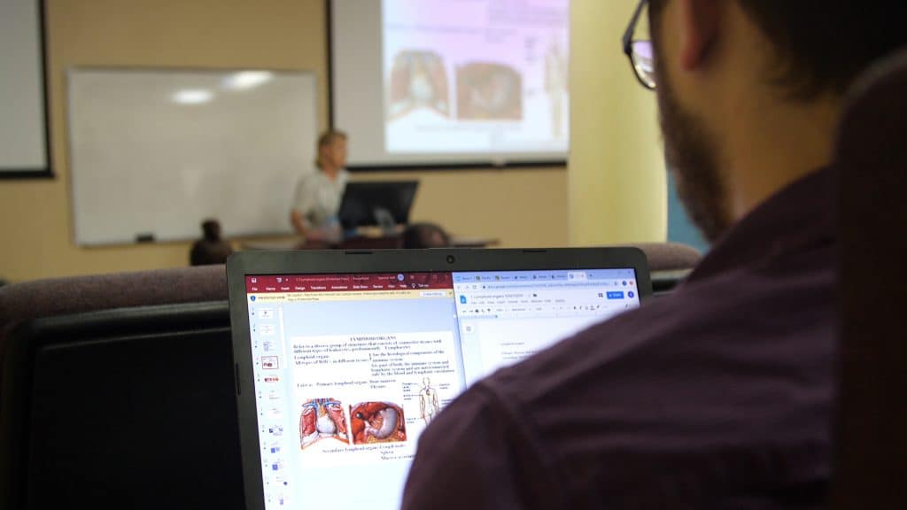
[[[668,165],[713,241],[831,162],[844,92],[907,44],[892,2],[648,3]]]

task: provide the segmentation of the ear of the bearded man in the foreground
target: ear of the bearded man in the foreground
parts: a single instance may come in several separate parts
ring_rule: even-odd
[[[722,0],[678,0],[680,65],[691,71],[703,64],[718,36]]]

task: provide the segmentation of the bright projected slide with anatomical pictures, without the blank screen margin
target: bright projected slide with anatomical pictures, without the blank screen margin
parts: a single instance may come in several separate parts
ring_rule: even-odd
[[[567,150],[567,0],[382,5],[385,152]]]

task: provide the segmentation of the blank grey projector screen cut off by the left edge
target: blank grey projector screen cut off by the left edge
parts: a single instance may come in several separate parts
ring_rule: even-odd
[[[0,178],[49,176],[40,0],[0,0]]]

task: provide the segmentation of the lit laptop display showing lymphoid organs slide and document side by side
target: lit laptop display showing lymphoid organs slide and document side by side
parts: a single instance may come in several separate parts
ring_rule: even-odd
[[[396,508],[469,385],[639,305],[632,270],[247,277],[266,506]]]

